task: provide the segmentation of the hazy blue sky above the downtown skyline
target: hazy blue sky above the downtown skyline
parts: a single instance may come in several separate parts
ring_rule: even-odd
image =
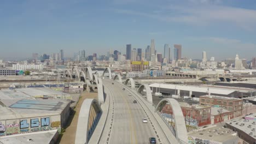
[[[2,0],[0,59],[182,45],[182,57],[256,57],[255,0]]]

